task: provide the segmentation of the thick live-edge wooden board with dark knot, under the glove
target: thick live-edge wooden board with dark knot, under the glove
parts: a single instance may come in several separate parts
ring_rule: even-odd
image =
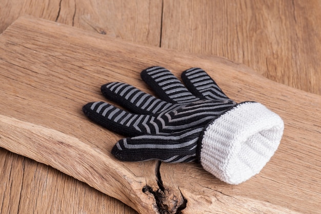
[[[282,142],[255,177],[228,185],[197,163],[128,163],[121,139],[90,122],[100,86],[126,82],[152,93],[139,72],[160,65],[177,76],[205,69],[236,102],[257,101],[285,122]],[[50,165],[140,213],[318,213],[321,96],[277,84],[209,55],[143,46],[30,16],[0,35],[0,146]],[[94,203],[94,202],[92,202]]]

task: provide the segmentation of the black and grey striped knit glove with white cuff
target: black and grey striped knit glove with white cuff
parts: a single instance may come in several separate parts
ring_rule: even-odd
[[[112,154],[122,161],[199,161],[205,170],[229,184],[242,183],[270,160],[282,138],[282,119],[256,102],[235,103],[202,69],[182,73],[185,86],[167,69],[150,67],[142,79],[158,98],[131,85],[101,87],[111,101],[88,103],[93,122],[127,136]]]

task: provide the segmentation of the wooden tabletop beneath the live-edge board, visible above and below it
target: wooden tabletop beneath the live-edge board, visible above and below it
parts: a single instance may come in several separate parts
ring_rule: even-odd
[[[319,1],[106,2],[5,0],[0,32],[29,14],[127,41],[227,57],[321,94]],[[1,213],[135,212],[44,164],[5,149],[0,159]]]

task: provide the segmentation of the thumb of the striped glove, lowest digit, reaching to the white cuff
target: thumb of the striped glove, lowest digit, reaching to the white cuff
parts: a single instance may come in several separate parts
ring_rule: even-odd
[[[197,142],[203,128],[170,135],[142,135],[116,143],[112,154],[122,161],[160,160],[168,163],[197,160]]]

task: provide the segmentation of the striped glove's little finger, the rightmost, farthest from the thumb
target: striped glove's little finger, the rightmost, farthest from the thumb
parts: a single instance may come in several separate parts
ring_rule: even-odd
[[[201,68],[190,68],[184,71],[182,80],[186,87],[200,98],[233,102]]]

